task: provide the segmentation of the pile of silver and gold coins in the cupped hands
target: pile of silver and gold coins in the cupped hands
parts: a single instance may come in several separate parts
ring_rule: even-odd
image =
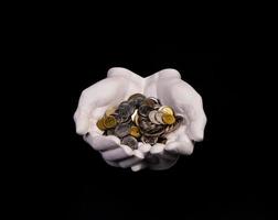
[[[175,116],[173,109],[162,106],[159,99],[135,94],[118,107],[108,108],[96,125],[105,135],[116,135],[121,144],[136,150],[140,141],[164,144],[167,134],[177,130],[182,121],[181,116]]]

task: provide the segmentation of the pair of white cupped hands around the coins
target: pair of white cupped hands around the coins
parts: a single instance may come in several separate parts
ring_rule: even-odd
[[[156,97],[164,106],[170,106],[184,118],[178,130],[168,134],[165,144],[154,145],[139,142],[137,150],[120,143],[114,135],[103,135],[96,127],[107,108],[118,106],[133,94]],[[206,116],[201,96],[175,69],[163,69],[149,77],[120,67],[110,68],[107,78],[85,89],[74,113],[76,132],[96,151],[104,161],[116,167],[137,172],[149,167],[159,170],[170,168],[179,155],[190,155],[194,142],[203,140]]]

